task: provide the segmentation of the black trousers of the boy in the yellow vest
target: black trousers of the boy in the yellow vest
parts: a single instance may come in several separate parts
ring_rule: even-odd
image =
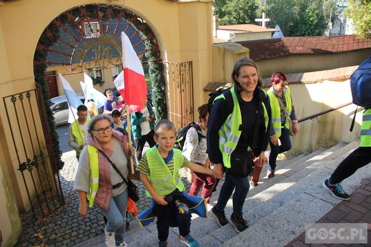
[[[157,232],[160,241],[166,241],[169,236],[169,227],[178,227],[179,234],[185,237],[190,232],[190,218],[187,200],[183,194],[174,196],[167,205],[156,205],[152,212],[157,217]]]

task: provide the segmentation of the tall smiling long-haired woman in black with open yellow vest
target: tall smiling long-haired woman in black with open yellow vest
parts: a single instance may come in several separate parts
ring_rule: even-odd
[[[252,165],[254,157],[255,166],[264,165],[264,151],[268,147],[272,122],[269,119],[269,97],[259,88],[258,75],[257,66],[251,59],[240,57],[236,61],[232,71],[233,87],[220,95],[222,97],[215,98],[207,127],[210,162],[214,164],[216,174],[226,170],[218,203],[212,208],[212,213],[219,226],[230,222],[238,233],[248,228],[242,217],[242,208],[250,188],[250,169],[246,168],[240,173],[231,170],[239,171],[240,167]],[[231,94],[232,98],[229,97]],[[232,108],[229,107],[231,103]],[[257,140],[256,144],[254,140]],[[243,164],[245,161],[248,164]],[[233,212],[228,221],[224,209],[232,194]]]

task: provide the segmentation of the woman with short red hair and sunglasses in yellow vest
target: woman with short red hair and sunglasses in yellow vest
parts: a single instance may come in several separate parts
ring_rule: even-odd
[[[295,108],[292,104],[290,88],[287,86],[287,78],[285,74],[280,71],[273,73],[271,82],[272,87],[267,92],[270,98],[272,109],[272,125],[270,131],[271,138],[269,140],[271,150],[265,152],[265,157],[268,160],[268,178],[272,178],[275,176],[278,154],[291,149],[289,124],[286,118],[285,111],[283,110],[279,101],[282,103],[282,105],[285,106],[286,113],[291,118],[294,132],[299,132],[298,121],[295,115]],[[280,140],[280,145],[278,145],[278,139]],[[251,180],[255,186],[258,185],[259,174],[261,170],[262,167],[254,168]]]

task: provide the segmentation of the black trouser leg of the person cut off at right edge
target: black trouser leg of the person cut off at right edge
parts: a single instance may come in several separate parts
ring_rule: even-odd
[[[345,158],[331,174],[332,184],[342,182],[359,168],[371,163],[371,147],[359,147]]]

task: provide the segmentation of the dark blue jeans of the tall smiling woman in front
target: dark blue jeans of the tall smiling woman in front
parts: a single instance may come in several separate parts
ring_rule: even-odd
[[[237,177],[226,174],[224,183],[220,190],[218,203],[215,205],[215,208],[219,211],[223,211],[234,190],[232,197],[233,218],[242,216],[242,207],[249,189],[250,183],[248,177]]]

